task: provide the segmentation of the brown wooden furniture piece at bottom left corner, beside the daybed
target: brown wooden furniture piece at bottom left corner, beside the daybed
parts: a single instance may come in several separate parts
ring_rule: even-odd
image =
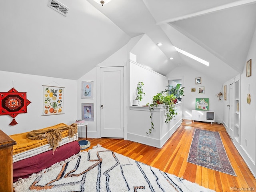
[[[15,144],[16,141],[0,130],[0,191],[13,191],[12,146]]]

